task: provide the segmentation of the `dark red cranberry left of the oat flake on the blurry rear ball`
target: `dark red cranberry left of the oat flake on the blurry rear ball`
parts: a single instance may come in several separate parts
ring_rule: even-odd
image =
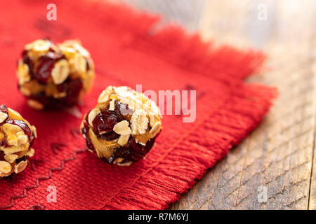
[[[51,70],[55,62],[62,58],[65,58],[65,55],[55,52],[48,52],[46,55],[39,57],[39,65],[33,74],[33,78],[36,78],[40,83],[46,84],[48,78],[51,76]]]

